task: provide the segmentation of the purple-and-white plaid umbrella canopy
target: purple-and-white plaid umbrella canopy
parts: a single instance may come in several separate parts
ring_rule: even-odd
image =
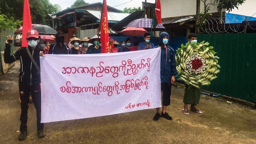
[[[136,19],[130,22],[126,28],[128,27],[135,27],[135,28],[145,28],[147,30],[150,30],[152,27],[152,19],[148,18],[141,18],[141,19]],[[156,29],[165,29],[162,24],[156,25]]]

